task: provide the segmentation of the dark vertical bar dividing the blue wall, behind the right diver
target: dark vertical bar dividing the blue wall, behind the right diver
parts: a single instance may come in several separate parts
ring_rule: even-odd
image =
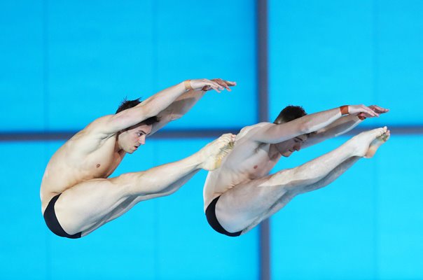
[[[257,89],[258,122],[267,122],[268,113],[268,1],[256,2],[257,24]],[[259,228],[260,272],[259,279],[270,280],[270,223],[265,220]]]

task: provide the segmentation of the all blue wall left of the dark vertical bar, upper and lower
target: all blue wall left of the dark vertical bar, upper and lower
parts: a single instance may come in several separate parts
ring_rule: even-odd
[[[239,6],[243,13],[234,13]],[[238,94],[209,92],[167,129],[254,123],[254,18],[254,2],[241,0],[210,7],[197,1],[0,1],[0,36],[6,38],[0,131],[80,130],[114,113],[125,96],[146,98],[187,78],[240,85]],[[113,176],[179,160],[209,141],[148,141]],[[227,239],[207,224],[205,172],[88,237],[55,237],[41,216],[39,185],[61,144],[0,143],[6,157],[0,202],[8,211],[0,220],[1,279],[257,279],[257,232]]]

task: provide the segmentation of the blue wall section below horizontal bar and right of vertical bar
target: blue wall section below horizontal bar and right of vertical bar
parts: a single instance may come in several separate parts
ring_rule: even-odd
[[[289,165],[281,160],[275,172],[301,165],[347,139],[294,153]],[[411,163],[418,161],[422,139],[391,137],[374,158],[359,160],[330,186],[294,198],[275,214],[273,279],[422,278],[422,190],[415,183],[419,165]]]

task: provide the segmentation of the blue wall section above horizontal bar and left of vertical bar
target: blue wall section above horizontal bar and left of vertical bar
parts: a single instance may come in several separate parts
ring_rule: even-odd
[[[209,92],[167,129],[232,128],[256,120],[254,1],[218,1],[215,8],[195,1],[28,4],[1,4],[6,67],[0,91],[7,116],[1,130],[80,130],[114,113],[125,97],[146,99],[195,78],[238,86],[231,93]],[[239,6],[243,13],[234,13]],[[19,106],[15,100],[22,100]],[[16,116],[17,108],[25,114]]]

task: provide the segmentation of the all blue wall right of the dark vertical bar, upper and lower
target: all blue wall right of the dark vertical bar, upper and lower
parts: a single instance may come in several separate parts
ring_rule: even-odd
[[[271,0],[270,118],[287,104],[308,113],[378,104],[391,111],[362,127],[421,127],[422,11],[422,1]],[[347,139],[294,154],[275,171]],[[375,158],[273,216],[273,279],[422,279],[421,143],[394,135]]]

